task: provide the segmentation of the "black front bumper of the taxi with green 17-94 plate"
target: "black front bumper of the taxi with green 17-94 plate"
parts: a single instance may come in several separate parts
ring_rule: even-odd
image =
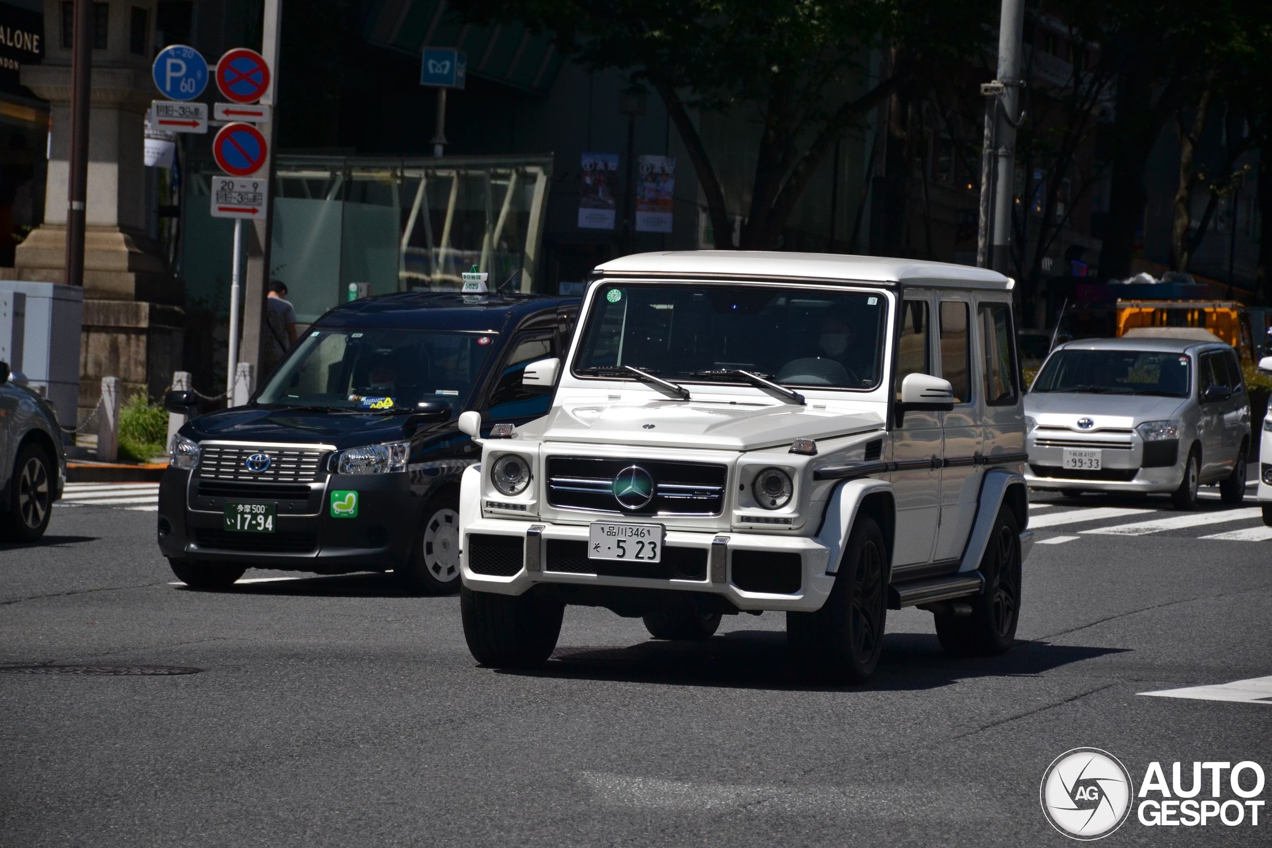
[[[270,498],[198,497],[190,472],[169,467],[159,483],[159,549],[196,562],[317,573],[387,571],[411,557],[426,498],[412,495],[406,474],[331,474],[314,487],[308,503],[279,502],[273,533],[230,533],[224,528],[226,500]],[[332,517],[333,491],[357,492],[356,517]],[[187,496],[195,497],[196,509]]]

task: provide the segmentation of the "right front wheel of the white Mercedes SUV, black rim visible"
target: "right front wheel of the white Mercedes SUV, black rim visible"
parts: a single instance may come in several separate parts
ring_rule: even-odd
[[[874,519],[859,517],[834,587],[815,613],[786,613],[786,643],[805,678],[864,683],[879,664],[888,618],[888,545]]]

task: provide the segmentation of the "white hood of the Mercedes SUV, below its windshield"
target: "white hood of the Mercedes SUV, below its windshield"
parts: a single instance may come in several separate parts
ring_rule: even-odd
[[[546,441],[584,441],[665,448],[754,450],[794,439],[828,439],[883,427],[883,404],[814,409],[794,404],[752,406],[647,400],[565,402],[542,418]]]

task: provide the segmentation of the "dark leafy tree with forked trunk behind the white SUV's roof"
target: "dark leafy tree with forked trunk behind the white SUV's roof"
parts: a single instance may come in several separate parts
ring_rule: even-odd
[[[836,141],[915,78],[982,48],[991,0],[469,0],[478,23],[552,33],[590,70],[619,69],[663,98],[731,247],[724,188],[693,112],[761,121],[743,248],[773,248]],[[884,70],[866,71],[871,51]]]

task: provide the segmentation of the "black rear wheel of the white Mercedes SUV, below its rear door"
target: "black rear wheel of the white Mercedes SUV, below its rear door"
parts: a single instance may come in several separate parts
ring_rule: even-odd
[[[981,558],[985,587],[969,599],[971,615],[953,610],[936,615],[936,638],[954,656],[997,656],[1016,641],[1020,622],[1020,526],[1006,506],[999,511],[988,548]],[[944,605],[945,609],[950,604]]]

